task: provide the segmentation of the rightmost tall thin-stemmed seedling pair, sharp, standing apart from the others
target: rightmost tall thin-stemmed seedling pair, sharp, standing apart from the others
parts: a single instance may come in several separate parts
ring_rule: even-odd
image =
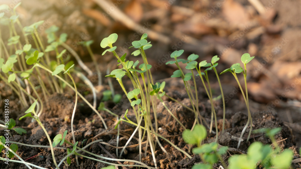
[[[247,53],[243,54],[241,56],[241,62],[244,64],[244,69],[240,66],[239,63],[235,63],[230,68],[225,69],[223,72],[220,73],[220,74],[223,74],[225,72],[231,72],[232,73],[232,75],[234,76],[235,80],[238,83],[238,86],[239,86],[240,91],[241,91],[241,93],[244,97],[244,101],[246,103],[247,110],[248,110],[248,121],[247,121],[247,124],[245,125],[243,131],[240,134],[240,139],[238,141],[237,148],[239,148],[239,146],[240,146],[240,141],[242,140],[241,138],[243,137],[244,131],[247,129],[249,123],[250,123],[250,132],[249,132],[249,135],[248,135],[248,138],[247,138],[247,142],[249,141],[251,131],[252,131],[252,127],[253,127],[252,116],[251,116],[250,107],[249,107],[249,97],[248,97],[248,88],[247,88],[247,66],[246,66],[247,63],[249,63],[253,58],[254,58],[254,56],[250,57],[250,54],[247,54]],[[238,78],[237,78],[237,75],[236,75],[236,73],[241,73],[241,72],[244,74],[244,83],[245,83],[246,95],[244,94],[243,89],[241,88],[241,85],[240,85],[240,83],[238,81]]]

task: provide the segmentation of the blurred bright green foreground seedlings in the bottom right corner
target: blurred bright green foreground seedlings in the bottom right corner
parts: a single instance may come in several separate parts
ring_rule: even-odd
[[[272,149],[269,145],[263,145],[260,142],[252,143],[248,148],[247,155],[233,155],[229,158],[229,169],[246,168],[255,169],[262,165],[263,168],[279,168],[287,169],[291,166],[293,158],[292,150],[286,149],[280,151],[275,140],[275,134],[281,131],[281,128],[264,128],[253,131],[253,133],[263,133],[272,140],[276,149]]]

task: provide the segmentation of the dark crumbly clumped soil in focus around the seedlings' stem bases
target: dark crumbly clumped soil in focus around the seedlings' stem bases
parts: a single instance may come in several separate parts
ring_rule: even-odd
[[[190,100],[186,98],[185,94],[182,95],[182,93],[185,93],[182,92],[184,88],[184,84],[182,83],[182,81],[180,81],[180,79],[177,78],[167,78],[165,80],[166,80],[166,93],[174,97],[184,105],[191,107]],[[171,84],[173,85],[171,86]],[[211,106],[206,98],[202,98],[205,97],[204,94],[205,94],[204,92],[199,93],[200,96],[199,110],[201,112],[201,115],[206,119],[206,122],[210,124]],[[13,96],[7,98],[12,98],[12,97]],[[101,97],[102,96],[100,96],[100,98]],[[70,118],[67,118],[70,117],[70,112],[72,112],[74,106],[74,103],[71,101],[72,97],[70,97],[70,95],[68,97],[68,94],[54,94],[48,99],[49,99],[48,103],[45,103],[46,105],[48,105],[46,108],[47,110],[45,110],[44,115],[41,116],[42,123],[45,126],[46,130],[48,131],[48,134],[50,135],[51,139],[53,139],[55,135],[63,134],[65,130],[68,130],[66,139],[72,142],[73,139],[72,139],[71,128],[70,128]],[[218,143],[222,146],[229,146],[233,148],[229,150],[227,154],[224,156],[226,163],[227,163],[227,158],[230,155],[237,154],[237,153],[247,153],[248,146],[250,146],[250,144],[253,143],[254,141],[260,141],[264,144],[271,144],[271,140],[265,137],[264,134],[252,134],[250,137],[250,141],[246,143],[245,140],[247,139],[247,134],[250,130],[249,128],[247,128],[245,135],[243,137],[244,141],[241,143],[240,148],[236,149],[238,143],[237,137],[240,136],[240,133],[247,122],[247,111],[245,109],[242,111],[237,111],[236,106],[233,107],[230,106],[231,104],[235,105],[235,103],[240,102],[237,99],[238,98],[234,97],[228,104],[229,106],[226,107],[226,109],[230,113],[227,113],[226,116],[227,118],[225,124],[226,126],[225,132],[223,134],[219,132]],[[173,102],[168,97],[163,97],[163,100],[166,106],[170,109],[170,111],[183,123],[183,125],[186,128],[192,127],[194,121],[193,112],[189,111],[188,109],[181,106],[180,104]],[[111,110],[113,110],[114,106],[117,106],[114,103],[110,103],[110,101],[107,101],[105,103],[106,105],[109,106],[108,108]],[[13,102],[11,102],[11,104],[13,104]],[[130,105],[125,103],[121,107],[124,108],[122,110],[119,110],[120,111],[119,115],[122,115],[125,112],[125,110],[130,107]],[[216,107],[216,110],[218,110],[218,107]],[[12,118],[18,119],[23,115],[23,113],[24,111],[15,108],[11,110],[10,115]],[[75,139],[79,141],[78,144],[79,147],[85,146],[87,143],[93,140],[102,139],[103,142],[107,144],[100,145],[95,143],[89,146],[86,150],[98,155],[102,155],[104,157],[116,158],[116,148],[114,148],[113,146],[116,146],[117,130],[114,130],[115,122],[112,120],[113,116],[108,115],[108,113],[105,113],[103,111],[100,111],[100,113],[102,117],[104,117],[104,120],[106,121],[106,124],[108,126],[107,130],[104,129],[104,126],[101,120],[99,119],[99,117],[95,113],[92,113],[90,109],[87,109],[87,107],[82,103],[82,101],[79,101],[79,106],[76,111],[76,116],[73,123],[74,130],[75,130]],[[133,122],[136,122],[135,116],[131,111],[129,112],[127,117]],[[283,121],[281,121],[278,118],[277,113],[272,113],[268,111],[253,112],[252,117],[253,117],[253,129],[282,127],[281,132],[276,135],[276,141],[278,141],[278,144],[281,147],[281,149],[287,149],[287,148],[292,149],[294,152],[294,158],[300,157],[300,155],[297,152],[299,147],[296,147],[296,141],[292,133],[292,129],[287,125],[285,125]],[[222,115],[218,115],[218,119],[219,119],[218,128],[219,131],[221,131]],[[48,140],[45,136],[45,133],[42,131],[42,128],[39,125],[37,125],[36,122],[31,122],[30,120],[31,119],[27,118],[26,120],[17,121],[17,126],[27,126],[26,128],[27,134],[18,135],[15,132],[12,132],[13,137],[10,137],[10,141],[31,144],[31,145],[38,145],[38,146],[48,145],[49,144]],[[152,122],[154,123],[154,118],[152,118],[152,120],[153,120]],[[175,121],[175,119],[172,118],[172,116],[167,112],[167,110],[163,107],[163,105],[160,102],[158,102],[158,106],[157,106],[157,120],[158,120],[158,127],[159,127],[158,133],[166,137],[169,141],[171,141],[173,144],[178,146],[180,149],[188,152],[189,146],[182,139],[183,129]],[[213,126],[215,125],[213,124]],[[134,130],[135,130],[134,125],[121,122],[118,146],[124,146]],[[213,128],[213,131],[215,131],[215,128]],[[0,134],[3,135],[4,132],[1,131]],[[205,140],[205,143],[214,141],[214,138],[215,138],[215,134],[211,134],[211,135],[209,134],[209,137]],[[83,142],[83,140],[85,141]],[[186,155],[184,155],[182,152],[175,149],[166,141],[160,139],[160,143],[168,152],[168,154],[165,154],[162,151],[162,149],[160,149],[160,147],[157,145],[156,152],[155,152],[156,161],[158,167],[160,168],[191,168],[193,164],[201,162],[201,159],[198,155],[193,155],[191,152],[189,152],[189,154],[193,157],[192,159],[189,159]],[[138,140],[132,139],[132,141],[129,143],[128,146],[130,145],[135,145],[135,146],[126,148],[125,152],[122,155],[122,158],[139,160]],[[63,144],[62,147],[66,147],[70,149],[72,148],[72,146],[67,145],[65,143]],[[145,144],[142,144],[142,150],[144,149],[145,149]],[[120,151],[121,149],[119,149],[119,153]],[[60,161],[64,156],[67,155],[66,150],[63,149],[55,149],[54,152],[57,161]],[[54,167],[49,148],[29,147],[29,146],[19,145],[17,154],[24,160],[33,157],[28,159],[27,161],[39,165],[41,167],[46,167],[46,168]],[[83,155],[90,156],[86,153],[83,153]],[[152,159],[149,146],[147,148],[147,156],[142,155],[142,157],[143,157],[142,162],[144,162],[149,166],[154,167],[154,162]],[[16,157],[14,157],[13,159],[17,160]],[[107,166],[107,164],[104,164],[102,162],[92,161],[90,159],[82,158],[82,157],[79,157],[79,166],[76,166],[74,155],[71,156],[71,161],[72,162],[69,167],[63,164],[61,168],[101,168]],[[1,164],[4,168],[18,169],[18,168],[25,167],[25,165],[23,164],[20,165],[18,163],[13,163],[13,162],[11,162],[9,165],[6,165],[4,164],[4,161],[1,161]],[[134,164],[134,163],[124,162],[123,164]],[[220,164],[216,164],[216,167],[219,167],[219,165]],[[300,164],[297,163],[297,164],[293,164],[293,167],[298,168],[301,166]]]

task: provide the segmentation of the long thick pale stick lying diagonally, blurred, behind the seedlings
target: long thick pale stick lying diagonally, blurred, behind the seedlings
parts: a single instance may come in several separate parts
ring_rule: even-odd
[[[141,26],[138,23],[135,23],[135,21],[133,21],[130,17],[128,17],[126,14],[124,14],[121,10],[119,10],[118,8],[116,8],[115,6],[113,6],[112,3],[107,2],[106,0],[93,0],[95,3],[97,3],[103,10],[107,10],[107,9],[111,9],[113,8],[114,11],[111,12],[110,16],[116,20],[119,21],[121,23],[123,23],[126,27],[128,27],[129,29],[135,30],[135,31],[139,31],[139,30],[144,30],[145,33],[147,33],[148,37],[150,37],[151,39],[154,40],[158,40],[161,42],[164,42],[166,44],[170,43],[170,39],[169,37],[155,32],[153,30],[149,30],[143,28],[143,26]]]

